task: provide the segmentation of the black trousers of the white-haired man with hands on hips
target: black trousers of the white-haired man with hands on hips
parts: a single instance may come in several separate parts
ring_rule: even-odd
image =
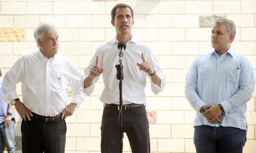
[[[22,120],[22,152],[23,153],[64,153],[67,126],[65,119],[45,122],[31,118]]]

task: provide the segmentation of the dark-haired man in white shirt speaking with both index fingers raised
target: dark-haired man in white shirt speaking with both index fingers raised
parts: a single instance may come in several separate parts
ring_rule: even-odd
[[[82,78],[83,92],[93,93],[95,83],[102,74],[104,87],[100,97],[104,103],[101,123],[101,152],[118,153],[119,64],[117,44],[127,44],[123,52],[123,132],[128,136],[132,153],[149,153],[149,125],[144,103],[146,78],[151,90],[158,94],[165,86],[163,74],[153,50],[132,36],[133,10],[129,5],[117,4],[111,11],[111,23],[116,37],[97,48]],[[120,108],[121,109],[121,108]]]

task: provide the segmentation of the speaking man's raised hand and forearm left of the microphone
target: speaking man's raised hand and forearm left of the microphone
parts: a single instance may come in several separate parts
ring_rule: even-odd
[[[89,87],[93,83],[93,79],[103,72],[103,68],[99,67],[99,56],[96,56],[95,65],[91,68],[89,75],[84,79],[84,88]]]

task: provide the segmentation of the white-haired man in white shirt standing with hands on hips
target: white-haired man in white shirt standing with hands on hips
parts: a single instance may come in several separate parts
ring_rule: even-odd
[[[57,54],[58,32],[53,24],[40,23],[34,31],[38,51],[21,56],[3,79],[3,100],[15,105],[22,118],[23,153],[64,153],[65,119],[84,101],[82,74],[67,58]],[[22,83],[22,101],[16,84]],[[68,103],[67,88],[73,98]]]

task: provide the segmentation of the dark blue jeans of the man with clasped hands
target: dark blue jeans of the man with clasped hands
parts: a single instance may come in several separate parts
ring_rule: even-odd
[[[235,127],[201,125],[195,127],[197,153],[242,153],[246,130]]]

